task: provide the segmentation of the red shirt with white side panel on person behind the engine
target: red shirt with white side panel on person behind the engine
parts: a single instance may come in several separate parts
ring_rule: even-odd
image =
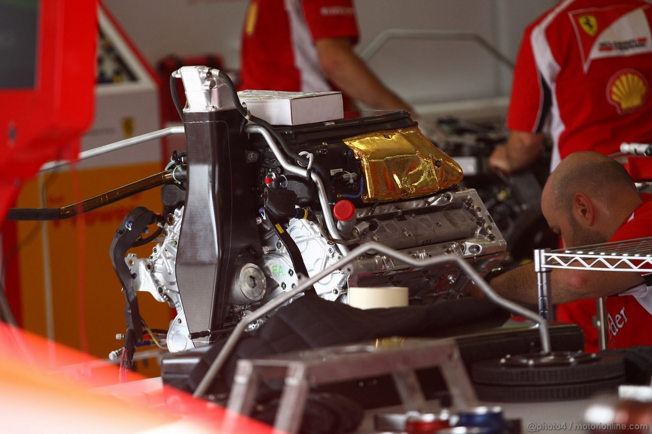
[[[357,41],[351,0],[252,0],[243,29],[240,89],[331,91],[314,42]]]

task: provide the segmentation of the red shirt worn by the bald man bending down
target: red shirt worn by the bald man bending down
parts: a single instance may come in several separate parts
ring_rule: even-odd
[[[652,202],[647,202],[634,210],[610,241],[651,236]],[[610,349],[652,345],[652,274],[642,272],[641,275],[646,283],[606,300]]]

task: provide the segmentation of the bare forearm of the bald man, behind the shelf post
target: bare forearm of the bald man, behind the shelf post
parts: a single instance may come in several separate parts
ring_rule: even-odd
[[[644,280],[637,272],[572,270],[554,268],[552,279],[552,302],[566,303],[582,298],[608,297],[630,289]],[[537,273],[534,264],[514,268],[489,282],[499,295],[510,300],[537,304]]]

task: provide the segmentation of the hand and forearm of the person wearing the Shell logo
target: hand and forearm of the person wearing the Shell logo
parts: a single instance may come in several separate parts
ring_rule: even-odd
[[[515,131],[507,144],[497,146],[489,156],[489,165],[507,175],[525,169],[537,160],[543,149],[543,134]]]

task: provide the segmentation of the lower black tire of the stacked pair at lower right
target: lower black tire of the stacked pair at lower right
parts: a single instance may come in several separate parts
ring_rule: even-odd
[[[544,402],[584,399],[597,392],[615,392],[625,377],[594,381],[593,383],[557,384],[554,386],[488,386],[475,384],[475,393],[481,401]]]

